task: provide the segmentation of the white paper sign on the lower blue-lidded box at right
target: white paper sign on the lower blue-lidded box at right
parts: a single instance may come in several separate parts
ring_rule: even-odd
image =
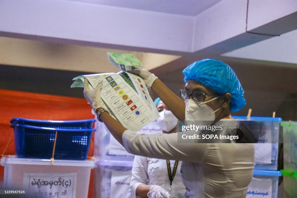
[[[247,189],[246,198],[271,198],[272,195],[272,180],[253,178]]]

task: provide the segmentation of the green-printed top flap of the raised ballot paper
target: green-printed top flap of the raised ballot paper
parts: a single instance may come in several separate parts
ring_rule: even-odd
[[[107,53],[108,60],[119,70],[129,71],[132,66],[142,66],[141,62],[133,54]]]

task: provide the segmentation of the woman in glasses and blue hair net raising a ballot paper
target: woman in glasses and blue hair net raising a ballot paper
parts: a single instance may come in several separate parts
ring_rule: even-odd
[[[228,143],[221,143],[221,140],[205,143],[199,139],[181,143],[178,142],[181,135],[197,136],[201,131],[136,134],[127,130],[103,108],[100,96],[102,83],[90,90],[85,80],[84,96],[97,113],[98,120],[105,124],[113,137],[129,153],[182,161],[181,174],[186,198],[246,197],[253,175],[255,145],[252,141],[245,141],[251,136],[251,130],[230,118],[231,112],[241,110],[246,103],[241,84],[230,66],[214,59],[190,64],[183,71],[185,85],[180,91],[181,98],[145,69],[134,67],[129,72],[142,77],[146,86],[160,97],[178,120],[185,123],[206,120],[212,122],[211,126],[224,121],[227,125],[224,124],[222,130],[215,130],[213,134],[230,136],[239,131],[242,132],[242,138],[236,142],[226,140]]]

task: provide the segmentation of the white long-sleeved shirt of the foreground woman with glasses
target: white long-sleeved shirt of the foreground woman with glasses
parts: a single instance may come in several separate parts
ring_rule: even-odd
[[[235,128],[237,121],[234,123]],[[199,132],[183,134],[195,133]],[[252,143],[194,143],[194,140],[178,143],[178,133],[135,134],[129,130],[123,133],[122,140],[129,153],[183,161],[185,197],[244,198],[247,195],[254,168],[255,145]]]

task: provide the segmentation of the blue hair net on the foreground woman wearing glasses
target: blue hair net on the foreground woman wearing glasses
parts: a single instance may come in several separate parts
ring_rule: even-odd
[[[196,61],[186,69],[184,81],[197,80],[208,86],[219,94],[230,93],[231,111],[241,110],[246,104],[244,91],[241,84],[231,67],[222,61],[215,59],[203,59]]]

